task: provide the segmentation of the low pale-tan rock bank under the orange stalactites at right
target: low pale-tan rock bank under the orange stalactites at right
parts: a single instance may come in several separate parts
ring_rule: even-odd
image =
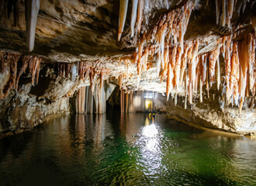
[[[220,96],[210,94],[202,103],[195,98],[193,104],[188,103],[185,109],[185,98],[181,96],[177,98],[177,105],[173,99],[167,102],[167,114],[173,119],[209,129],[244,135],[256,132],[256,109],[249,108],[248,101],[241,113],[238,108],[220,105],[219,102]]]

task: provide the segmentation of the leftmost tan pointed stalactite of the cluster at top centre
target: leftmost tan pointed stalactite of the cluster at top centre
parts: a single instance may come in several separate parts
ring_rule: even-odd
[[[129,0],[119,0],[119,28],[117,40],[119,41],[123,33],[124,23],[126,22],[126,14]]]

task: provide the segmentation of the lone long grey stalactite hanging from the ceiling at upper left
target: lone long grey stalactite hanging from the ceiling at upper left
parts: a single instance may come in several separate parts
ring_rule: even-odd
[[[26,44],[29,52],[31,52],[35,43],[36,21],[40,9],[40,0],[26,0],[25,4]]]

